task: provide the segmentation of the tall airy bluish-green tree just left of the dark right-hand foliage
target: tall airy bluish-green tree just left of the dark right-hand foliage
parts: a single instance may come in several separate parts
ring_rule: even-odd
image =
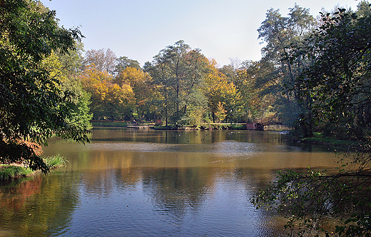
[[[265,21],[258,29],[259,39],[263,39],[266,44],[260,61],[262,65],[268,66],[266,74],[256,79],[257,85],[265,88],[261,96],[274,98],[270,106],[275,109],[276,118],[296,130],[303,128],[304,136],[312,135],[310,114],[306,113],[305,105],[298,103],[298,91],[288,88],[295,84],[295,78],[305,61],[298,59],[293,62],[287,55],[292,45],[303,44],[304,37],[310,34],[315,25],[316,21],[309,14],[309,9],[295,4],[288,17],[281,16],[278,10],[268,10]],[[298,126],[300,116],[309,119]]]

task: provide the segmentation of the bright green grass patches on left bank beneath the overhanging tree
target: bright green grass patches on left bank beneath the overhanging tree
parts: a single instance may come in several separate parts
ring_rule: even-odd
[[[58,168],[66,164],[66,161],[64,161],[63,157],[60,155],[46,157],[44,158],[44,162],[46,163],[46,166],[48,166],[50,169]],[[36,173],[36,171],[32,171],[30,168],[27,168],[22,165],[17,164],[0,165],[1,181],[31,176],[34,173]]]

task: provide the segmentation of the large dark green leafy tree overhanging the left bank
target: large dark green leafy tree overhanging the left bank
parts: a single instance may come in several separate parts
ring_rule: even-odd
[[[78,29],[58,26],[56,12],[39,1],[1,1],[0,7],[0,161],[28,161],[30,168],[48,168],[32,146],[52,135],[86,142],[86,127],[70,123],[76,106],[71,91],[50,76],[41,61],[52,51],[65,54],[81,39]]]

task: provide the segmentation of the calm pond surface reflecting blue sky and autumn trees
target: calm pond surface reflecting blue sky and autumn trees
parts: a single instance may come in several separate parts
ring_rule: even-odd
[[[283,133],[95,128],[51,139],[65,167],[0,186],[0,236],[280,236],[250,198],[286,168],[327,168],[327,148]]]

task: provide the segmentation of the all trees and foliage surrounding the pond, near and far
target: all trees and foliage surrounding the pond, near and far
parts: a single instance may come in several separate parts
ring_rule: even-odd
[[[371,235],[367,1],[317,18],[296,4],[288,16],[269,9],[258,29],[262,59],[225,66],[182,40],[143,66],[111,49],[83,56],[79,29],[64,29],[55,16],[39,1],[0,1],[1,163],[46,173],[37,147],[54,135],[88,142],[91,119],[153,121],[158,128],[285,125],[303,141],[320,141],[318,133],[350,141],[350,153],[334,175],[281,173],[255,205],[287,211],[288,228],[300,223],[303,235]],[[329,217],[338,220],[332,232]]]

